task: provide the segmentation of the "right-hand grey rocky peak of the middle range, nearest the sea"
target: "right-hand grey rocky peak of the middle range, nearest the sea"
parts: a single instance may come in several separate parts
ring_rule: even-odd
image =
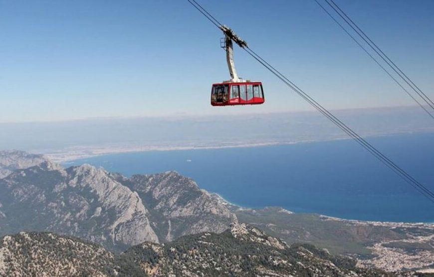
[[[223,232],[236,216],[177,172],[134,175],[126,183],[147,204],[162,242],[200,232]]]

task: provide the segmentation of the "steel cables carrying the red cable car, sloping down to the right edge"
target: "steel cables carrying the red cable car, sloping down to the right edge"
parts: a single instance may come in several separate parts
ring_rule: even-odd
[[[188,1],[192,5],[194,5],[192,3],[192,1],[196,2],[195,0],[188,0]],[[196,5],[194,5],[194,6],[197,9],[199,9]],[[204,14],[210,21],[212,21],[210,19],[210,17],[206,15],[206,13],[207,14],[210,14],[210,13],[208,13],[208,11],[206,11],[205,8],[203,8],[202,6],[199,5],[199,7],[204,10],[204,11],[201,11],[201,13]],[[214,17],[212,17],[212,18],[214,18]],[[218,22],[218,21],[216,20],[216,22]],[[215,22],[213,22],[213,23],[216,25]],[[219,27],[219,26],[217,26],[217,27]],[[374,155],[374,157],[376,157],[377,159],[379,159],[383,164],[385,164],[386,166],[388,166],[392,171],[394,171],[404,181],[406,181],[407,183],[409,183],[411,186],[413,186],[416,190],[418,190],[420,193],[422,193],[425,197],[427,197],[430,201],[432,201],[434,203],[434,193],[433,192],[431,192],[428,188],[426,188],[424,185],[422,185],[421,183],[419,183],[410,174],[408,174],[406,171],[404,171],[403,169],[401,169],[392,160],[390,160],[389,158],[387,158],[380,151],[378,151],[374,146],[372,146],[366,140],[364,140],[362,137],[360,137],[356,132],[354,132],[351,128],[349,128],[347,125],[345,125],[338,118],[336,118],[327,109],[325,109],[324,107],[322,107],[318,102],[316,102],[313,98],[311,98],[309,95],[307,95],[304,91],[302,91],[299,87],[297,87],[294,83],[292,83],[288,78],[286,78],[278,70],[276,70],[274,67],[272,67],[267,61],[265,61],[262,57],[260,57],[258,54],[256,54],[253,50],[251,50],[249,47],[246,47],[246,48],[243,48],[243,49],[249,55],[251,55],[254,59],[256,59],[260,64],[262,64],[265,68],[267,68],[270,72],[272,72],[278,79],[280,79],[283,83],[285,83],[292,90],[294,90],[299,96],[301,96],[304,100],[306,100],[309,104],[311,104],[314,108],[316,108],[319,112],[321,112],[325,117],[327,117],[330,121],[332,121],[340,129],[342,129],[347,135],[349,135],[351,138],[353,138],[354,140],[356,140],[356,142],[358,142],[368,152],[370,152],[372,155]]]

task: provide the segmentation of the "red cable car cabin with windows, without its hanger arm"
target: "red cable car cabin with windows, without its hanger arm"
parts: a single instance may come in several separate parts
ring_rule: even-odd
[[[265,101],[261,82],[224,82],[213,84],[211,105],[255,105]]]

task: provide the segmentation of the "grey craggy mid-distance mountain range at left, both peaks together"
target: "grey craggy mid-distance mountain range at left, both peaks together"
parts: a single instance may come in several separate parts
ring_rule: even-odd
[[[128,179],[90,165],[65,169],[44,161],[0,179],[0,235],[48,231],[122,251],[222,232],[233,221],[225,206],[176,172]]]

